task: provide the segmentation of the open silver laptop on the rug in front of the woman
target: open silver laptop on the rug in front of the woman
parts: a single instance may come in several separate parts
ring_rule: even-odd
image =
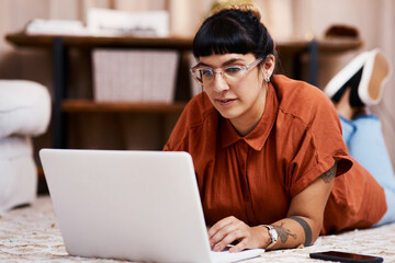
[[[188,152],[42,149],[67,252],[144,262],[236,262],[212,252]]]

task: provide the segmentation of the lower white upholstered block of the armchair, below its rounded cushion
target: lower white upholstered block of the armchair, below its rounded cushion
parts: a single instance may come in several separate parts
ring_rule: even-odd
[[[0,213],[32,204],[37,193],[37,170],[30,137],[0,138]]]

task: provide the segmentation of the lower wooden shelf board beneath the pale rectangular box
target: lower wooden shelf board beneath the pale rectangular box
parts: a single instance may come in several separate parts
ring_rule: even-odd
[[[67,113],[181,113],[185,102],[95,102],[92,100],[64,100]]]

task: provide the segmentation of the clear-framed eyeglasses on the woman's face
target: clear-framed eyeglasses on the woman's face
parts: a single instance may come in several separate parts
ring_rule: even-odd
[[[210,67],[194,66],[190,69],[192,77],[201,85],[211,85],[214,82],[215,73],[221,73],[228,84],[236,84],[246,76],[248,70],[259,65],[262,58],[257,58],[248,66],[227,66],[224,68],[213,69]]]

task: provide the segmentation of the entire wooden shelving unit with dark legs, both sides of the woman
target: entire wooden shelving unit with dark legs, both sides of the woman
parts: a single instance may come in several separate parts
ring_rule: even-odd
[[[44,48],[52,50],[54,65],[54,105],[53,105],[53,138],[54,148],[67,148],[66,114],[78,113],[150,113],[150,114],[174,114],[181,113],[187,101],[190,99],[190,79],[185,54],[191,52],[192,38],[166,37],[166,38],[142,38],[142,37],[106,37],[106,36],[56,36],[56,35],[26,35],[14,33],[5,36],[7,41],[16,47]],[[291,56],[294,65],[300,65],[303,54],[309,55],[308,81],[317,83],[318,56],[319,54],[339,54],[359,48],[360,41],[280,41],[276,48],[280,55]],[[95,102],[94,100],[67,98],[67,61],[69,48],[151,48],[151,49],[176,49],[180,56],[177,78],[176,98],[173,103],[127,103],[127,102]],[[298,68],[298,67],[296,67]],[[296,70],[292,78],[301,79]],[[183,89],[181,89],[183,88]]]

